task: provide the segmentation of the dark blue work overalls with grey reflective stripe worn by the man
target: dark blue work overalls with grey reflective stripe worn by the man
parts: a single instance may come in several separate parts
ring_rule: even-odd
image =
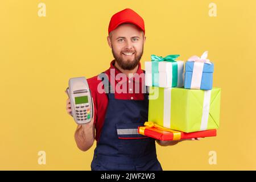
[[[109,80],[106,88],[113,90]],[[155,139],[138,134],[138,126],[148,118],[148,94],[144,93],[144,100],[117,100],[114,93],[106,94],[108,108],[92,170],[162,170],[156,158]]]

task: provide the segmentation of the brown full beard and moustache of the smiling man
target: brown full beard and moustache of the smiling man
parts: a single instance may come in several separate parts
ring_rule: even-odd
[[[131,52],[131,51],[127,50],[122,52]],[[137,65],[139,64],[139,61],[141,60],[141,57],[143,55],[143,47],[142,47],[142,52],[139,55],[137,55],[137,51],[134,51],[134,60],[130,60],[130,59],[127,59],[126,61],[123,60],[122,52],[120,52],[120,55],[118,55],[114,53],[113,47],[112,47],[113,56],[115,58],[115,61],[117,61],[117,64],[119,65],[119,67],[121,67],[122,69],[132,70],[135,67],[137,67]]]

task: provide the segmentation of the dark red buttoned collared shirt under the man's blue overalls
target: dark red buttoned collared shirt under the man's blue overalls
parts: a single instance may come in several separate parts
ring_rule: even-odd
[[[144,99],[144,73],[139,63],[137,73],[141,77],[123,77],[121,71],[114,66],[115,60],[111,61],[110,68],[104,73],[108,76],[110,84],[114,89],[115,99],[119,100],[143,100]],[[122,79],[124,78],[124,79]],[[89,88],[93,97],[94,104],[94,124],[96,128],[96,140],[100,139],[101,129],[104,125],[106,110],[108,107],[108,96],[98,92],[98,85],[102,84],[100,78],[94,76],[88,80]]]

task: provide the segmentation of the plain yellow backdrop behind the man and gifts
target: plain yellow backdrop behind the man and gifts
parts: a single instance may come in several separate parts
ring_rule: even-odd
[[[40,2],[46,17],[38,16]],[[217,17],[208,15],[210,2]],[[186,60],[208,50],[213,85],[222,89],[217,137],[157,146],[163,169],[255,170],[255,0],[1,0],[0,169],[90,170],[96,143],[86,152],[76,147],[64,89],[71,77],[109,68],[109,20],[127,7],[145,21],[143,68],[151,54]],[[41,150],[46,165],[38,164]],[[209,151],[217,152],[216,165]]]

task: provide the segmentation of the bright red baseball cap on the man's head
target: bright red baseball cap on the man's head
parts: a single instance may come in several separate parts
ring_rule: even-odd
[[[115,13],[109,22],[109,33],[117,28],[122,23],[133,23],[145,34],[144,20],[135,11],[131,9],[124,9]]]

